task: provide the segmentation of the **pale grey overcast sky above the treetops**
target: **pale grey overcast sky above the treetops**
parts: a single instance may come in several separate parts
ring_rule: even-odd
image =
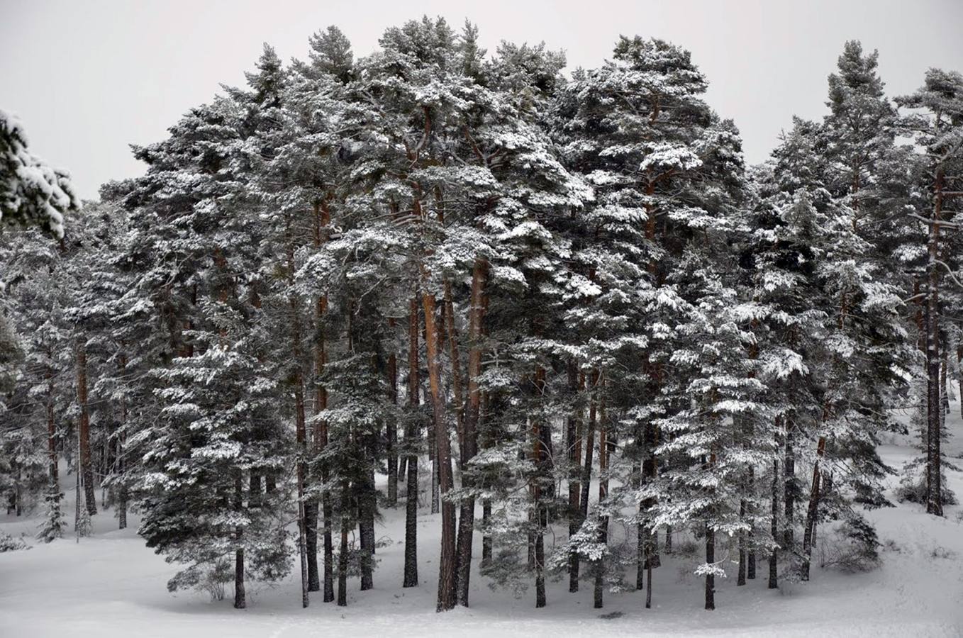
[[[824,113],[846,39],[879,50],[891,95],[918,87],[929,66],[963,70],[963,0],[0,0],[0,108],[95,197],[102,182],[143,172],[128,143],[163,139],[221,83],[243,84],[262,42],[304,58],[307,38],[334,24],[360,56],[385,28],[424,13],[456,27],[470,18],[489,50],[544,40],[569,68],[600,64],[620,34],[685,46],[753,163],[792,115]]]

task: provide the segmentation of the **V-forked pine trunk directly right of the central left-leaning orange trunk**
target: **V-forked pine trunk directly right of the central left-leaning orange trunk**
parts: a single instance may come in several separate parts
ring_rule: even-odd
[[[481,330],[484,322],[484,290],[488,263],[481,257],[472,267],[472,288],[468,308],[468,403],[461,421],[461,483],[463,488],[474,487],[472,473],[466,465],[478,453],[478,425],[481,414]],[[458,348],[455,343],[455,323],[452,308],[451,284],[445,288],[446,315],[448,318],[449,343],[452,346],[452,368],[455,370],[455,405],[461,410],[461,387],[458,364]],[[458,516],[457,538],[457,601],[468,606],[469,580],[472,572],[472,541],[475,533],[475,497],[461,501]]]

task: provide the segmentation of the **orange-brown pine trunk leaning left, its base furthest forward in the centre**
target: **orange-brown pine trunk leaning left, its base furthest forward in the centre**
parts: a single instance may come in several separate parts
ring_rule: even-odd
[[[435,458],[441,496],[441,555],[438,565],[438,611],[455,607],[455,503],[449,498],[454,488],[452,449],[445,423],[444,397],[441,394],[441,362],[438,353],[438,328],[435,324],[434,295],[422,293],[425,313],[425,344],[427,346],[429,388],[434,417]]]

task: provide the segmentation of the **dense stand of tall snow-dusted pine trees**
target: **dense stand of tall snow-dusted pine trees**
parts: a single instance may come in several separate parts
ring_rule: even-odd
[[[824,115],[747,166],[658,38],[573,70],[424,17],[309,51],[266,44],[98,201],[0,111],[0,498],[27,540],[130,519],[176,568],[152,587],[239,609],[426,572],[438,612],[476,580],[651,608],[671,561],[713,610],[880,569],[897,502],[949,515],[959,72],[888,95],[848,41]]]

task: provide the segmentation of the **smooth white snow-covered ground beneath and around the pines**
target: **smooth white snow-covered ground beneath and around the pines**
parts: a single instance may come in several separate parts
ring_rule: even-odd
[[[955,459],[963,458],[959,414],[956,404],[948,423],[948,452]],[[915,453],[910,443],[909,437],[887,437],[880,454],[900,469]],[[948,474],[950,487],[963,496],[963,474]],[[65,511],[71,513],[72,479],[64,485]],[[898,483],[897,476],[889,480],[891,488]],[[735,577],[718,582],[712,612],[702,609],[702,580],[670,559],[654,573],[652,609],[644,608],[638,592],[607,593],[605,609],[593,609],[590,585],[569,594],[567,579],[550,582],[548,606],[534,609],[532,590],[515,599],[508,591],[489,590],[476,573],[472,607],[437,614],[437,515],[420,518],[417,588],[401,587],[403,508],[386,509],[378,536],[393,543],[378,550],[374,590],[358,591],[355,579],[347,607],[325,604],[314,594],[311,606],[301,609],[296,573],[273,587],[249,585],[248,608],[235,610],[229,592],[220,602],[202,593],[169,594],[165,585],[174,568],[144,547],[136,517],[130,528],[117,531],[108,511],[94,517],[95,535],[80,543],[68,537],[0,553],[0,636],[963,636],[960,507],[948,506],[945,519],[911,503],[869,516],[886,548],[880,569],[852,575],[817,568],[808,584],[769,591],[761,563],[760,577],[745,587],[737,587]],[[0,529],[24,533],[31,542],[37,524],[36,518],[0,517]],[[475,548],[481,552],[481,539]]]

